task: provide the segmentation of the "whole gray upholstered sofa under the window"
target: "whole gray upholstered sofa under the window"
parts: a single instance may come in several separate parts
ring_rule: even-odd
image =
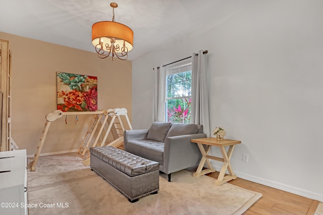
[[[125,130],[124,149],[158,162],[171,181],[171,173],[199,164],[202,155],[191,139],[203,137],[202,125],[154,122],[149,129]]]

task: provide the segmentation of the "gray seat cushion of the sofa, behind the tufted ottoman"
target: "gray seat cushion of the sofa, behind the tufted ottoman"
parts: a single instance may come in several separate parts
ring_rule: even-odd
[[[142,158],[164,164],[164,142],[155,140],[129,140],[125,150]]]

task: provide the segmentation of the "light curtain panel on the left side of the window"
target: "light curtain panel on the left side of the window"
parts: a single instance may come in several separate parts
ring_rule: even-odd
[[[155,82],[153,89],[153,120],[164,122],[165,119],[165,92],[166,92],[166,66],[154,68]]]

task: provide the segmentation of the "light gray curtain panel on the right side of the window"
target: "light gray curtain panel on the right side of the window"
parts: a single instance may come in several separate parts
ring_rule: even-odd
[[[192,106],[191,123],[203,125],[203,132],[210,136],[207,87],[207,55],[203,50],[192,54]]]

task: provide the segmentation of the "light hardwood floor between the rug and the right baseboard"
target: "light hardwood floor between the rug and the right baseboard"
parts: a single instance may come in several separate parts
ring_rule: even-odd
[[[195,172],[197,167],[188,170]],[[206,174],[212,178],[218,178],[219,172]],[[262,193],[262,197],[255,202],[244,215],[257,214],[314,214],[319,203],[317,200],[295,195],[286,191],[247,181],[241,178],[231,180],[228,183],[236,186]],[[214,185],[215,186],[215,185]]]

